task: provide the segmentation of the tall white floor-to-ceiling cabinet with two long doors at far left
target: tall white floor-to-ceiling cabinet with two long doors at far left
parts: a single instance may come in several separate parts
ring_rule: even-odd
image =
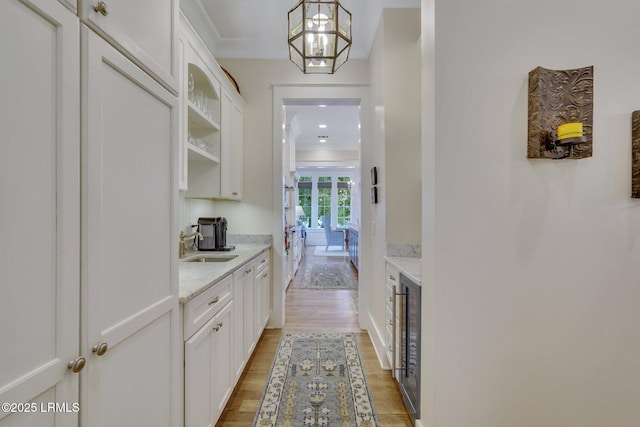
[[[1,427],[181,424],[177,98],[101,28],[0,4]]]

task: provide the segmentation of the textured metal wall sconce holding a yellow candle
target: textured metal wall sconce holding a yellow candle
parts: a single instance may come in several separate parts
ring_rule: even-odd
[[[558,126],[580,122],[584,136],[559,140]],[[527,158],[583,159],[593,152],[593,67],[529,72]]]

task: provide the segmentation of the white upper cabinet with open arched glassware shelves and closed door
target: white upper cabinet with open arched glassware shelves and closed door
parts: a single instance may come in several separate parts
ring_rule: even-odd
[[[240,200],[246,103],[184,15],[178,46],[179,188],[185,197]]]

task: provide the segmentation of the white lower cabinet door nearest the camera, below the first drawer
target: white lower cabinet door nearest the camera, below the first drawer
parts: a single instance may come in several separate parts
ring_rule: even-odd
[[[233,302],[185,343],[185,427],[215,425],[231,395]]]

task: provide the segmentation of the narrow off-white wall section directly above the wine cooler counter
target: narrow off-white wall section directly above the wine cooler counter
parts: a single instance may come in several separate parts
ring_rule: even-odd
[[[386,243],[421,240],[420,12],[383,11]]]

